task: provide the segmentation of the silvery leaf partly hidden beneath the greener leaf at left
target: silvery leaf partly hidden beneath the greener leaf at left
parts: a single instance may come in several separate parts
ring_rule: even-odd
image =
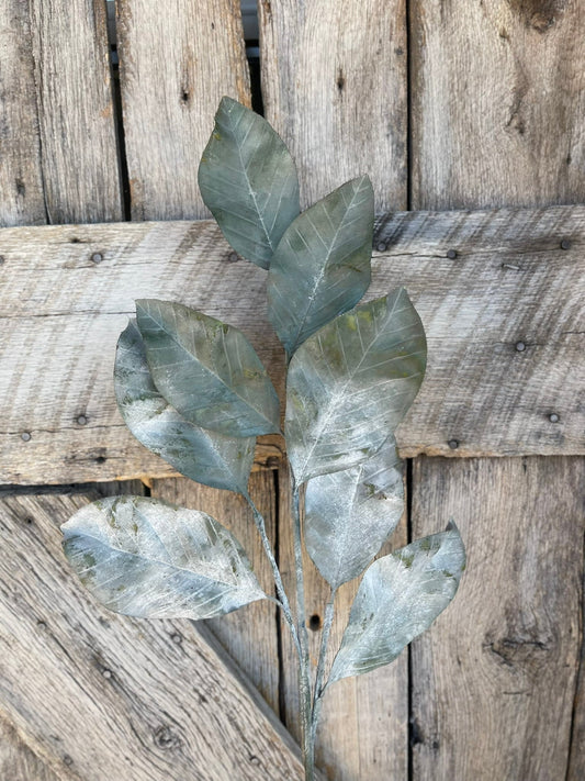
[[[191,480],[247,492],[256,438],[225,436],[181,417],[153,382],[134,321],[117,342],[114,387],[125,424],[149,450]]]

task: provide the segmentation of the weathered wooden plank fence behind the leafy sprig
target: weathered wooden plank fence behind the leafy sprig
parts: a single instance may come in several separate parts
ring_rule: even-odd
[[[227,523],[270,581],[246,506],[133,442],[111,381],[134,299],[157,295],[245,328],[282,390],[263,274],[233,256],[196,187],[220,98],[250,101],[239,2],[116,5],[119,71],[103,0],[0,8],[0,778],[301,778],[273,606],[203,628],[125,620],[60,553],[58,524],[83,502],[147,492]],[[583,7],[258,10],[265,115],[295,156],[303,203],[370,175],[374,288],[405,283],[429,333],[428,378],[398,432],[409,498],[393,544],[453,516],[469,554],[429,633],[331,689],[324,777],[580,781]],[[261,442],[251,489],[292,590],[282,455],[277,437]],[[315,654],[315,570],[307,592]]]

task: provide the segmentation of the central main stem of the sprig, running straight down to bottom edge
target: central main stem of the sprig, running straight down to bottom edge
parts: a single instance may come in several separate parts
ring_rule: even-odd
[[[294,564],[296,569],[296,621],[299,625],[299,640],[301,654],[299,657],[299,700],[301,711],[301,732],[303,761],[305,766],[305,781],[315,778],[314,743],[311,739],[311,679],[308,663],[308,634],[305,616],[305,584],[303,574],[303,547],[301,543],[301,513],[299,510],[299,486],[291,477],[293,531],[294,531]]]

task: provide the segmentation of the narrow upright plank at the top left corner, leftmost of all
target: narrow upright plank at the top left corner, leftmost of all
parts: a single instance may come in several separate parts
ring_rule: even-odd
[[[29,3],[0,7],[0,225],[45,222]]]

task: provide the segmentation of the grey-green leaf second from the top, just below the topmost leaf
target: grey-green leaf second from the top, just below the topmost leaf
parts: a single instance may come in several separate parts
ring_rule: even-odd
[[[348,181],[300,214],[268,272],[268,316],[286,353],[341,312],[370,284],[374,193],[367,176]]]

